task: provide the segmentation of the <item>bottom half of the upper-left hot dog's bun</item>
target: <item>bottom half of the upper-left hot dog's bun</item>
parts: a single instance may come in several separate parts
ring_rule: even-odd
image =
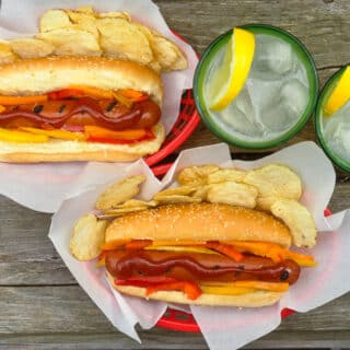
[[[165,139],[162,124],[153,127],[155,139],[133,144],[112,144],[84,141],[50,140],[45,143],[0,141],[0,161],[9,163],[37,162],[131,162],[155,153]]]

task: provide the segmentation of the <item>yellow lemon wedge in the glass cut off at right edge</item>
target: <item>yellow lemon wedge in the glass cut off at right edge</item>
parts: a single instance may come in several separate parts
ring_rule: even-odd
[[[338,84],[328,97],[324,112],[326,116],[330,116],[342,107],[350,98],[350,66],[342,73]]]

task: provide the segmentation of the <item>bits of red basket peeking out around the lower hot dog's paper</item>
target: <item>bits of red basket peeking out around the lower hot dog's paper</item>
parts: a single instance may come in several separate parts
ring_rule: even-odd
[[[172,165],[173,164],[167,163],[154,166],[152,167],[153,174],[155,176],[163,176],[171,168]],[[330,214],[330,210],[326,209],[325,217],[328,217]],[[293,313],[294,311],[291,308],[283,308],[281,311],[281,317],[284,318]],[[191,314],[174,308],[167,308],[165,314],[158,320],[156,326],[172,330],[200,332],[200,328]]]

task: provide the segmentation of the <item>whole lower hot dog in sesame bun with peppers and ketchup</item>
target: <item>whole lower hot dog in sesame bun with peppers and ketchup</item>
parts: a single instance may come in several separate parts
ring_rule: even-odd
[[[296,283],[311,256],[289,250],[289,229],[254,209],[167,205],[112,222],[101,259],[112,285],[136,296],[257,307]]]

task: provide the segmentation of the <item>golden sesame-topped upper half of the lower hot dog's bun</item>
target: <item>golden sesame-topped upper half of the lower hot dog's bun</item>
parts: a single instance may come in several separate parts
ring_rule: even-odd
[[[264,241],[291,245],[289,229],[271,214],[220,203],[161,206],[114,220],[106,242],[162,241]]]

